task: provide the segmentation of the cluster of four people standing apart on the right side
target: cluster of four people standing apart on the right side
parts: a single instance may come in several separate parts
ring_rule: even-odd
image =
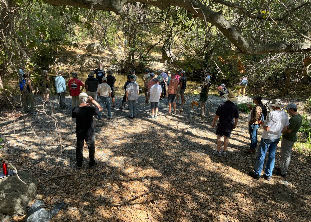
[[[216,127],[217,135],[217,149],[213,151],[213,154],[221,157],[226,156],[226,150],[229,145],[229,138],[231,132],[236,128],[239,120],[239,109],[235,101],[238,100],[235,97],[234,92],[229,92],[223,95],[226,99],[221,103],[217,110],[212,127]],[[285,177],[288,171],[288,167],[291,160],[291,152],[293,145],[297,141],[297,133],[302,124],[302,116],[298,113],[297,105],[295,103],[289,103],[284,110],[291,116],[288,116],[284,110],[284,107],[280,99],[273,99],[269,106],[272,111],[267,114],[267,108],[262,104],[262,97],[257,95],[253,97],[252,107],[250,104],[249,109],[251,113],[248,116],[248,131],[250,137],[250,147],[244,150],[247,154],[253,154],[258,144],[258,128],[260,125],[263,128],[263,133],[260,140],[260,145],[257,151],[257,160],[254,165],[253,171],[248,175],[254,179],[260,179],[263,177],[266,180],[271,180],[272,174]],[[218,123],[216,124],[216,121]],[[281,140],[281,167],[275,168],[275,155],[276,147]],[[222,138],[224,137],[223,149],[221,149]],[[261,175],[264,160],[266,154],[269,154],[268,161],[265,167],[264,174]]]

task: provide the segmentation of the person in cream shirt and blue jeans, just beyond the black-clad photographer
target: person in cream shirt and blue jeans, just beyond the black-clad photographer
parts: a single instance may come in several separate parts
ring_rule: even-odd
[[[111,87],[107,84],[107,78],[103,77],[103,83],[99,84],[97,93],[99,96],[99,104],[101,107],[104,106],[104,103],[106,104],[107,111],[108,111],[108,119],[111,119],[111,111],[110,111],[110,97],[111,97]],[[101,120],[101,112],[99,112],[97,118]]]

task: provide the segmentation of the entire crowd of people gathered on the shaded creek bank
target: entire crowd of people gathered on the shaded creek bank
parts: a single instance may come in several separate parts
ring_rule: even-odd
[[[156,78],[155,73],[150,73],[148,69],[144,72],[145,75],[143,77],[143,81],[146,98],[145,102],[150,102],[151,104],[151,116],[149,118],[157,118],[159,102],[165,97],[167,97],[169,105],[169,111],[167,114],[176,114],[176,105],[185,104],[184,92],[187,86],[185,71],[165,73],[165,69],[162,68],[160,72],[158,72],[158,76]],[[107,77],[105,76],[106,73],[108,74]],[[96,78],[94,77],[94,74],[96,74]],[[55,86],[58,94],[59,106],[60,108],[66,108],[66,104],[64,102],[66,82],[63,78],[62,71],[58,71],[57,75],[58,76],[55,78]],[[44,92],[42,93],[44,94],[44,102],[46,102],[49,99],[48,94],[50,91],[47,89],[49,88],[50,81],[47,77],[47,72],[44,72],[44,76],[46,76],[46,78],[44,78],[44,82],[42,84],[44,88]],[[133,119],[137,115],[137,99],[139,94],[135,70],[132,70],[131,75],[128,75],[127,78],[127,82],[123,87],[125,93],[122,105],[119,109],[124,109],[125,102],[128,102],[129,118]],[[25,92],[25,104],[29,107],[29,112],[33,113],[33,106],[29,105],[32,100],[30,95],[32,94],[33,89],[27,75],[23,74],[23,79],[23,85],[25,86],[25,88],[23,88],[23,92]],[[205,104],[207,102],[209,82],[210,73],[207,71],[206,76],[202,80],[202,88],[199,99],[199,102],[201,103],[200,117],[202,118],[205,117]],[[115,77],[113,76],[113,71],[111,69],[107,69],[105,71],[101,64],[97,69],[90,72],[89,77],[86,79],[84,84],[77,78],[76,72],[72,73],[72,79],[68,82],[69,93],[72,97],[72,118],[76,118],[77,120],[76,158],[78,168],[82,167],[84,140],[86,141],[89,150],[89,166],[90,168],[93,168],[95,165],[93,115],[96,115],[98,119],[101,119],[103,105],[105,104],[108,111],[108,118],[112,117],[110,111],[110,98],[113,98],[112,107],[114,107],[114,83]],[[219,91],[225,91],[223,90],[223,87],[225,87],[224,84],[220,85],[217,89]],[[86,93],[82,92],[84,88],[86,89]],[[181,95],[181,103],[179,103],[179,95]],[[96,102],[97,96],[99,96],[99,103]],[[239,109],[234,103],[238,100],[238,97],[235,96],[234,92],[229,91],[222,94],[222,96],[226,99],[226,101],[222,102],[218,106],[214,120],[211,124],[212,127],[216,127],[217,135],[217,149],[213,151],[213,154],[219,157],[227,155],[226,150],[229,145],[231,132],[237,127],[239,120]],[[291,118],[288,119],[286,112],[281,110],[283,105],[280,99],[273,99],[269,103],[272,108],[272,111],[269,114],[267,114],[266,106],[262,104],[261,96],[257,95],[253,97],[253,103],[255,104],[254,107],[248,104],[250,109],[250,114],[248,116],[250,147],[245,149],[243,152],[247,154],[253,154],[255,152],[258,144],[258,128],[260,125],[263,127],[263,133],[257,151],[257,160],[253,171],[249,172],[249,176],[255,179],[260,179],[263,176],[266,180],[270,180],[272,174],[285,177],[291,160],[291,150],[297,141],[297,133],[302,124],[302,116],[298,113],[296,104],[289,103],[284,108],[284,110],[291,116]],[[172,108],[174,109],[173,112]],[[217,121],[218,123],[216,124]],[[276,146],[279,143],[282,134],[281,166],[279,168],[274,168]],[[223,149],[221,149],[222,138],[224,138]],[[267,152],[269,153],[269,156],[265,173],[261,175]]]

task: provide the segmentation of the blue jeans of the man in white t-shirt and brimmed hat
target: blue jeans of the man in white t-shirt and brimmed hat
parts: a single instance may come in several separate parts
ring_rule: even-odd
[[[269,150],[269,157],[268,157],[267,165],[265,168],[265,174],[268,177],[272,176],[272,170],[274,168],[276,146],[279,142],[280,142],[280,138],[261,139],[260,146],[259,146],[258,153],[257,153],[257,160],[254,166],[254,173],[256,175],[261,175],[263,163],[265,161],[265,156],[266,156],[267,151]]]

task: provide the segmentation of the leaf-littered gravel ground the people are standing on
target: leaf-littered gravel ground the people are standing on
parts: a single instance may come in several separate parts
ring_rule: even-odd
[[[39,99],[36,97],[42,111]],[[270,182],[253,180],[247,173],[256,155],[241,151],[249,145],[247,115],[240,114],[228,156],[217,157],[211,153],[216,147],[211,121],[223,99],[210,96],[205,119],[197,117],[199,107],[191,108],[192,99],[197,97],[188,97],[179,117],[164,115],[167,100],[160,101],[156,120],[148,118],[150,105],[143,96],[134,120],[127,117],[127,110],[118,109],[112,109],[113,119],[108,120],[104,108],[104,118],[94,118],[96,167],[88,168],[86,148],[81,171],[87,175],[62,177],[39,186],[37,199],[47,207],[65,202],[53,221],[310,221],[310,165],[303,161],[304,156],[294,150],[285,179],[289,188],[282,186],[284,179],[278,176]],[[116,99],[116,107],[121,100]],[[69,97],[66,103],[71,107]],[[51,105],[45,111],[50,115]],[[44,114],[16,120],[7,117],[0,122],[8,143],[4,155],[39,181],[78,172],[71,108],[59,109],[55,102],[55,111],[63,137],[62,155],[57,154],[54,122]]]

